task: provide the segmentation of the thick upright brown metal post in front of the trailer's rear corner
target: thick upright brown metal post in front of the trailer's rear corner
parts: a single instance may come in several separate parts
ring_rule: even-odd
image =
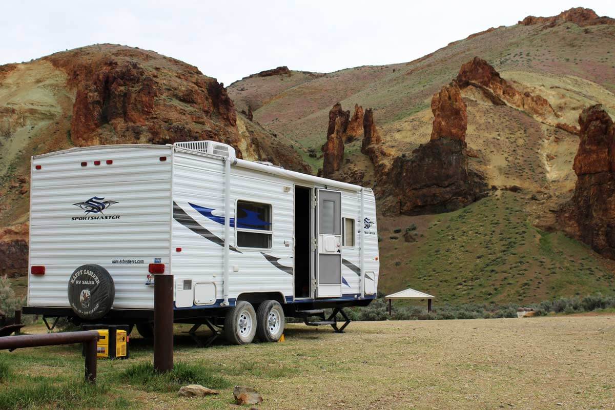
[[[154,370],[173,370],[173,275],[154,275]]]

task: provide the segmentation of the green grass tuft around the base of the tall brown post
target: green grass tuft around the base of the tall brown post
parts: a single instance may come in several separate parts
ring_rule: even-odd
[[[158,374],[151,363],[137,363],[125,369],[120,378],[146,392],[173,392],[186,384],[200,384],[209,388],[225,388],[230,383],[204,365],[175,363],[173,371]]]

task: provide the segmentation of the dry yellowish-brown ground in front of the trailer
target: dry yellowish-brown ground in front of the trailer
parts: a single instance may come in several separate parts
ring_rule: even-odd
[[[261,409],[615,408],[615,315],[356,322],[344,334],[288,325],[283,343],[209,349],[177,334],[176,361],[203,363],[232,384],[255,387]],[[99,377],[151,360],[143,341],[132,343],[135,358],[99,361]],[[37,353],[66,353],[44,349]],[[40,365],[24,371],[49,374]],[[228,409],[236,408],[231,392],[186,399],[122,387],[119,394],[137,408]]]

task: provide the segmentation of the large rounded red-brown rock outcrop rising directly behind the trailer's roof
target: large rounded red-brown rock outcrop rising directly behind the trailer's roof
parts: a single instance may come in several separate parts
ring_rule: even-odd
[[[231,144],[241,157],[234,105],[224,86],[196,67],[109,44],[45,59],[68,74],[75,90],[75,144],[210,139]]]

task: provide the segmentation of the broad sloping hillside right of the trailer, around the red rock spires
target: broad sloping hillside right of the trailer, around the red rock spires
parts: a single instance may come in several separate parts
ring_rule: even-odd
[[[372,108],[381,146],[390,154],[383,160],[386,167],[430,140],[432,95],[474,57],[485,59],[520,98],[536,96],[552,108],[547,112],[536,104],[494,103],[475,84],[461,90],[469,166],[493,186],[490,197],[452,214],[400,215],[395,196],[387,196],[395,189],[394,179],[378,177],[361,152],[360,138],[344,144],[342,165],[332,177],[360,181],[381,193],[381,288],[388,292],[413,286],[450,301],[536,301],[581,290],[610,293],[613,261],[547,231],[559,229],[554,210],[571,197],[577,180],[573,159],[579,114],[599,103],[615,116],[614,21],[591,10],[571,9],[490,28],[408,63],[311,76],[290,70],[250,76],[228,92],[238,109],[249,105],[256,121],[297,141],[295,148],[314,172],[323,167],[321,146],[331,107],[339,102],[351,114],[355,104]],[[472,218],[459,223],[456,215],[470,210]],[[507,221],[513,215],[515,224]],[[446,229],[427,229],[434,221],[446,221]],[[418,229],[405,242],[410,226]]]

